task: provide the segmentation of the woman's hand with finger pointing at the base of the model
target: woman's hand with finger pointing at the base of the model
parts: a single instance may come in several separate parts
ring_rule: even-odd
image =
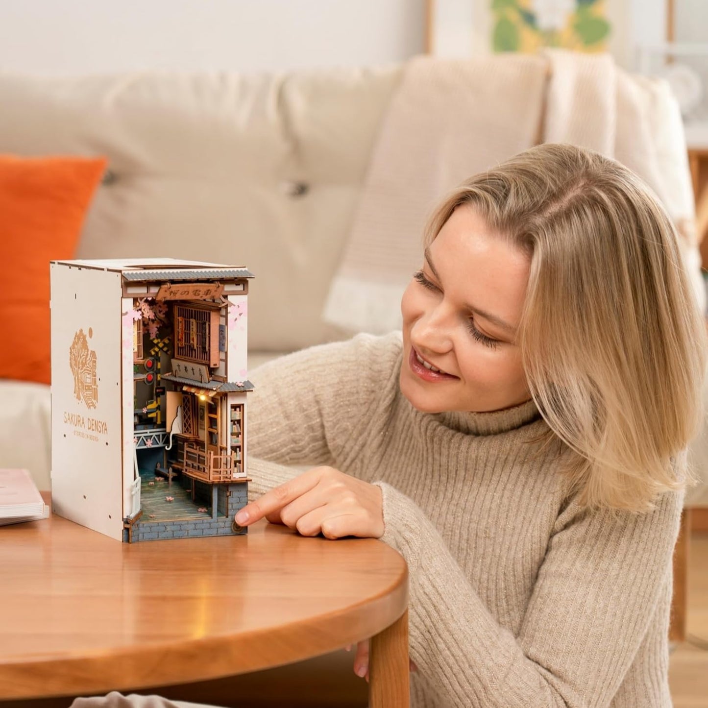
[[[384,535],[381,490],[333,467],[314,467],[271,489],[244,506],[236,523],[248,526],[263,517],[303,536]]]

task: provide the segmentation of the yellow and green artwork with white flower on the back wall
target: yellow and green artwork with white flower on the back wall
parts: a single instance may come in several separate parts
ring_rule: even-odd
[[[489,0],[495,52],[563,47],[604,52],[611,26],[606,0]]]

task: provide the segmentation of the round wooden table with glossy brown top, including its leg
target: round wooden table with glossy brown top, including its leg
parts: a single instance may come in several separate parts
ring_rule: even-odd
[[[125,544],[62,518],[0,527],[0,696],[97,695],[301,661],[372,637],[370,707],[409,705],[405,561],[375,539]]]

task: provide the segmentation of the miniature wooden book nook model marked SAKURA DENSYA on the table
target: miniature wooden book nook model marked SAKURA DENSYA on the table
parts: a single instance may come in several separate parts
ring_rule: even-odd
[[[52,506],[127,542],[241,534],[246,268],[53,261]]]

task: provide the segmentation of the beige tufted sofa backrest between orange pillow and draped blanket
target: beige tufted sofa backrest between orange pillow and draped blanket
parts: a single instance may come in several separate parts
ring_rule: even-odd
[[[249,346],[293,350],[340,336],[321,311],[400,72],[0,74],[0,152],[107,155],[78,256],[247,265]]]

